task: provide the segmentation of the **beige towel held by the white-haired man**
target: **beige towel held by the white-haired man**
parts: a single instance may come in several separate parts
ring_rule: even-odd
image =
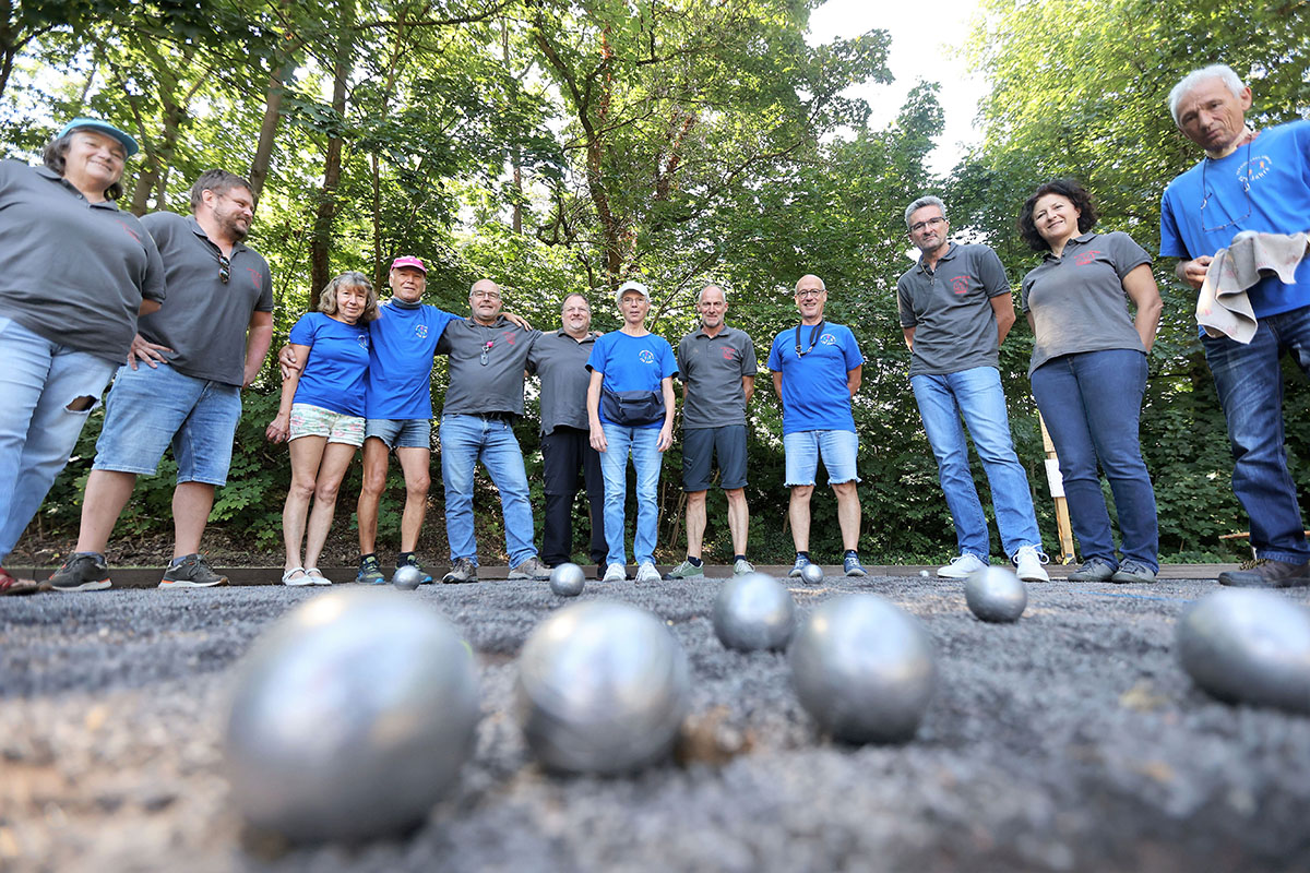
[[[1250,343],[1256,322],[1246,289],[1269,272],[1285,284],[1294,283],[1306,246],[1310,246],[1310,233],[1238,233],[1227,249],[1214,254],[1205,270],[1205,281],[1196,298],[1196,323],[1210,336]]]

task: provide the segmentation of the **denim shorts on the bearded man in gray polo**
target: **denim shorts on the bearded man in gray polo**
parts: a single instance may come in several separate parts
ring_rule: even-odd
[[[118,368],[105,399],[93,470],[153,476],[172,444],[177,480],[221,486],[241,419],[241,389],[178,373],[168,364]]]

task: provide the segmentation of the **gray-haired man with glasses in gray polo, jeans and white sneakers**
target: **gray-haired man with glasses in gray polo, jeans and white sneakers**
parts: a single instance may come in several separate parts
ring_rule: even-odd
[[[1032,492],[1010,437],[1000,348],[1014,326],[1014,298],[1001,259],[988,246],[947,240],[946,204],[921,196],[905,208],[910,242],[922,253],[896,283],[909,382],[937,458],[959,555],[937,571],[965,579],[988,565],[986,516],[969,471],[968,425],[988,483],[1005,554],[1019,579],[1048,582]]]

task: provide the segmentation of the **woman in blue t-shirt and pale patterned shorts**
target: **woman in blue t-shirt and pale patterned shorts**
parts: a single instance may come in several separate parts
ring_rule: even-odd
[[[362,272],[343,272],[324,288],[318,312],[305,313],[291,329],[291,349],[305,365],[282,382],[282,406],[266,432],[272,442],[287,440],[291,450],[291,491],[282,509],[284,585],[330,584],[318,571],[318,555],[337,512],[337,490],[364,442],[367,325],[375,318],[373,283]]]

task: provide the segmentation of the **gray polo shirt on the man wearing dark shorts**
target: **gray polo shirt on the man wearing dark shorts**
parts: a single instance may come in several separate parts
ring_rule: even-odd
[[[743,376],[755,376],[755,343],[744,330],[727,325],[714,336],[705,329],[677,344],[679,378],[686,383],[683,429],[745,424]]]

